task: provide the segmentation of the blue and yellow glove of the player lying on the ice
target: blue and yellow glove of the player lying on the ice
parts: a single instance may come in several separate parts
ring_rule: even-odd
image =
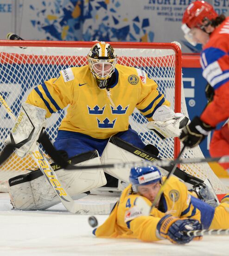
[[[165,215],[157,224],[159,238],[165,238],[172,243],[189,243],[194,236],[188,236],[186,232],[190,230],[202,229],[200,222],[194,219],[180,219],[172,215]]]

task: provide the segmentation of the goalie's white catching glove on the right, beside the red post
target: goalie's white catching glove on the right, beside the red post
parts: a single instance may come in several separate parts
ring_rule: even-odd
[[[178,137],[181,129],[190,120],[181,113],[175,113],[171,108],[160,106],[153,114],[153,120],[147,124],[147,128],[153,130],[161,139]]]

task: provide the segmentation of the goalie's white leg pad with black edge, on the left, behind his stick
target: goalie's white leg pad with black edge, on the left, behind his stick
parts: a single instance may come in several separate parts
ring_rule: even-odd
[[[69,161],[79,166],[101,163],[96,150],[77,155]],[[80,193],[101,187],[107,182],[102,168],[80,171],[64,170],[55,164],[51,166],[73,199],[78,199]],[[44,210],[60,202],[50,183],[39,170],[10,179],[9,186],[9,194],[15,209]]]

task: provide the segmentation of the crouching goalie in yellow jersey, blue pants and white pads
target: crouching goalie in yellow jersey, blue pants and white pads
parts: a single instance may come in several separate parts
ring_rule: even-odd
[[[129,125],[129,116],[134,108],[148,119],[147,128],[162,139],[180,135],[181,128],[189,119],[172,111],[170,102],[144,71],[116,64],[114,48],[105,42],[97,42],[87,58],[88,65],[61,70],[58,77],[32,89],[7,139],[16,145],[16,153],[20,157],[34,149],[45,127],[45,119],[67,106],[67,114],[60,124],[54,146],[64,152],[69,161],[75,161],[74,164],[106,161],[112,150],[107,147],[108,141],[114,136],[126,145],[157,155],[157,149],[146,146]],[[126,154],[123,149],[121,152]],[[133,157],[135,159],[136,155]],[[128,182],[128,170],[121,172],[98,168],[74,172],[58,169],[57,172],[70,195],[77,198],[77,195],[109,182],[107,179],[110,176],[106,174],[106,179],[104,171]],[[10,181],[15,208],[47,209],[59,202],[49,182],[42,176],[34,177],[25,175],[21,180]],[[28,202],[22,200],[25,195],[29,197],[26,199]]]

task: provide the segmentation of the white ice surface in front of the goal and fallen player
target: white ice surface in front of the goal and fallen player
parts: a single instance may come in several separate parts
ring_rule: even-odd
[[[85,197],[91,203],[93,196]],[[115,201],[116,198],[110,201]],[[202,241],[174,245],[168,241],[102,239],[92,234],[89,215],[73,215],[58,204],[45,211],[12,210],[0,193],[0,256],[228,256],[229,236],[204,236]],[[107,216],[96,215],[99,224]]]

